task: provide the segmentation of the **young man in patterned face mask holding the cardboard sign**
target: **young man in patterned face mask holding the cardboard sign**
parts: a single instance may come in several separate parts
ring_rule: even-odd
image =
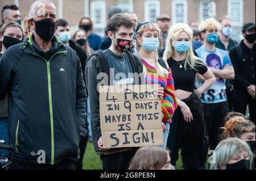
[[[92,115],[92,134],[94,148],[101,154],[102,167],[106,169],[128,169],[130,159],[135,149],[103,147],[99,86],[103,85],[141,85],[141,78],[134,74],[143,73],[143,65],[138,56],[130,53],[135,24],[125,14],[112,16],[108,23],[108,35],[112,45],[104,51],[97,51],[88,60],[85,68],[86,86],[90,96],[90,111]],[[100,74],[101,73],[101,74]],[[102,74],[103,73],[103,74]],[[158,89],[158,96],[163,97],[163,88]]]

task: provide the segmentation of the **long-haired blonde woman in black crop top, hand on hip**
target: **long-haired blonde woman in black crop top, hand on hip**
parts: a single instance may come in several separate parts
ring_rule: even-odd
[[[196,57],[192,49],[192,30],[187,24],[176,24],[172,27],[164,51],[164,60],[172,69],[174,77],[175,94],[179,108],[174,113],[173,123],[169,135],[170,140],[167,146],[171,149],[172,165],[177,161],[178,144],[182,147],[181,154],[185,169],[199,169],[200,149],[203,149],[204,119],[203,112],[200,112],[200,96],[216,81],[213,73],[203,63],[203,60]],[[201,74],[204,85],[195,90],[196,75]],[[195,126],[196,124],[197,127]],[[202,126],[203,125],[203,126]],[[181,133],[179,137],[178,132]],[[195,133],[193,133],[195,132]],[[178,141],[179,140],[179,141]]]

